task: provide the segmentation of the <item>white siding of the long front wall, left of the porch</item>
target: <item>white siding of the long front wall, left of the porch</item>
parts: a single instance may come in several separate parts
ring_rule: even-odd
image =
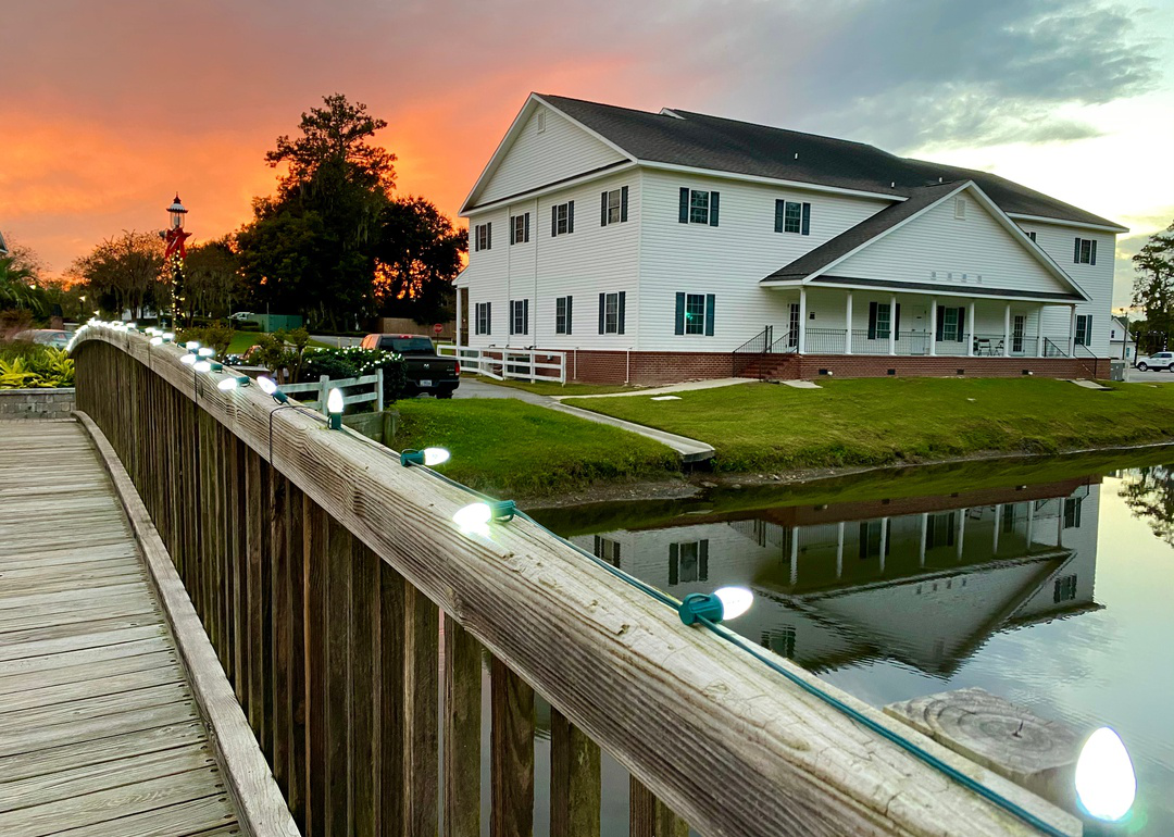
[[[640,349],[728,352],[787,324],[783,293],[758,282],[855,227],[886,201],[742,183],[717,177],[641,174]],[[682,224],[681,187],[721,194],[718,225]],[[775,232],[775,201],[811,204],[811,234]],[[714,336],[675,335],[676,293],[714,293]],[[866,308],[865,308],[866,311]]]

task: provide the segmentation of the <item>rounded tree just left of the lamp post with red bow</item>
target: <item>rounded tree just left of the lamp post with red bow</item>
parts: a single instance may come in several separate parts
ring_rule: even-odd
[[[85,282],[96,306],[116,315],[130,311],[137,318],[147,308],[160,310],[168,304],[170,291],[162,269],[160,237],[131,230],[103,241],[74,262],[70,272]]]

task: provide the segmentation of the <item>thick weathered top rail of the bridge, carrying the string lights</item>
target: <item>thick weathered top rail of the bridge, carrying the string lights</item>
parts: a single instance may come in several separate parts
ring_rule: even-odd
[[[256,386],[221,391],[215,374],[194,385],[170,344],[90,326],[74,351],[95,342],[148,366],[229,428],[701,833],[1038,833],[749,653],[686,627],[545,529],[514,519],[463,532],[453,514],[470,494],[403,467],[386,448],[281,409]],[[780,664],[1059,831],[1079,833],[1070,815]]]

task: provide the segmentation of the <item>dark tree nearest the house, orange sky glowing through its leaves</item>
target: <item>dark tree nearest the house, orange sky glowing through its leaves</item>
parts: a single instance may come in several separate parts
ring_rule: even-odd
[[[468,251],[468,234],[423,197],[392,201],[376,248],[375,301],[384,317],[417,323],[452,316],[452,281]]]

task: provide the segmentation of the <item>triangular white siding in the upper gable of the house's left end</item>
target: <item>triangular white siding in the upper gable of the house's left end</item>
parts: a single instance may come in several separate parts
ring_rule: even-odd
[[[546,114],[546,130],[542,133],[538,131],[540,113]],[[625,160],[610,146],[566,116],[539,104],[522,123],[513,144],[474,203],[499,201]]]

